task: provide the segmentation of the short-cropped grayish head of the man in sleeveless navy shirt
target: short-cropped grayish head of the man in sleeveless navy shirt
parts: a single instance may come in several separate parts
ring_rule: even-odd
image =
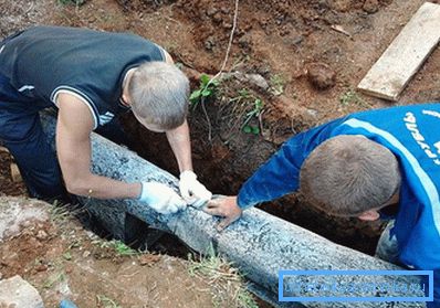
[[[188,113],[189,81],[172,64],[148,62],[130,74],[126,88],[136,118],[148,129],[169,130]]]

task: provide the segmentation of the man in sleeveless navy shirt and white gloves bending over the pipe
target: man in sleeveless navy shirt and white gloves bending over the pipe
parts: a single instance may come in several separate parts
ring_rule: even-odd
[[[59,197],[63,178],[71,193],[138,198],[160,213],[206,202],[211,193],[192,171],[188,93],[188,78],[169,54],[137,35],[34,26],[0,43],[0,140],[32,197]],[[39,110],[51,106],[59,109],[60,164],[39,118]],[[91,173],[91,132],[129,109],[147,129],[166,132],[180,169],[181,197],[157,182]]]

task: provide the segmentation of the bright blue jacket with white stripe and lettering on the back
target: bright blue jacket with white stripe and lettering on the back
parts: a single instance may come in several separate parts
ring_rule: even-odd
[[[440,306],[440,103],[356,113],[294,136],[243,184],[239,206],[295,192],[304,160],[338,135],[363,135],[398,158],[402,183],[392,232],[399,259],[409,268],[434,270],[430,306]]]

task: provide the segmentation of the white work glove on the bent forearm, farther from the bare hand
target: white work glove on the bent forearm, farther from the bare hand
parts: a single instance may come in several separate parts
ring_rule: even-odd
[[[161,214],[176,213],[184,210],[187,203],[171,188],[158,182],[142,182],[140,202],[147,203]]]

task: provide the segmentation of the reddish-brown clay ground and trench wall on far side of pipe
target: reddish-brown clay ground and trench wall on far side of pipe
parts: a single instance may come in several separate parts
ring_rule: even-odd
[[[233,26],[234,1],[88,0],[2,1],[0,35],[32,24],[87,26],[137,33],[163,45],[199,86],[201,73],[219,71]],[[72,1],[75,2],[75,1]],[[440,1],[431,1],[439,3]],[[226,72],[216,96],[191,107],[189,121],[196,172],[216,193],[237,193],[243,181],[290,136],[348,113],[440,100],[440,50],[436,49],[398,103],[356,92],[356,85],[380,56],[422,0],[240,0],[238,24]],[[345,33],[335,31],[339,26]],[[316,72],[317,71],[317,72]],[[260,117],[248,116],[255,100]],[[203,105],[206,113],[203,110]],[[244,132],[244,123],[259,127]],[[134,149],[177,174],[163,135],[146,131],[130,116],[124,125]],[[20,194],[1,157],[0,190]],[[18,192],[19,191],[19,192]],[[262,208],[321,235],[373,254],[379,223],[332,219],[297,197]]]

